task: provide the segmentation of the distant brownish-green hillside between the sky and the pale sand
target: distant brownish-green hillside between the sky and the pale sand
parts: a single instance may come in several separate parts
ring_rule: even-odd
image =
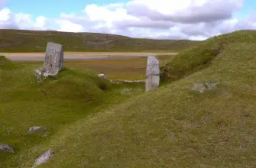
[[[178,52],[199,43],[192,40],[137,39],[113,34],[0,30],[0,52],[45,52],[47,42],[63,44],[65,51],[122,52]]]

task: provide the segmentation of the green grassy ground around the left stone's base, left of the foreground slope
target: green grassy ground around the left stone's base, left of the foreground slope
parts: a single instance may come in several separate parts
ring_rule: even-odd
[[[35,64],[11,63],[0,57],[0,143],[15,148],[15,156],[34,145],[50,140],[62,127],[112,105],[131,95],[112,86],[97,73],[64,69],[57,78],[38,84]],[[138,94],[140,91],[134,94]],[[28,134],[31,126],[44,126],[49,136]],[[18,166],[12,154],[0,153],[0,167]]]

